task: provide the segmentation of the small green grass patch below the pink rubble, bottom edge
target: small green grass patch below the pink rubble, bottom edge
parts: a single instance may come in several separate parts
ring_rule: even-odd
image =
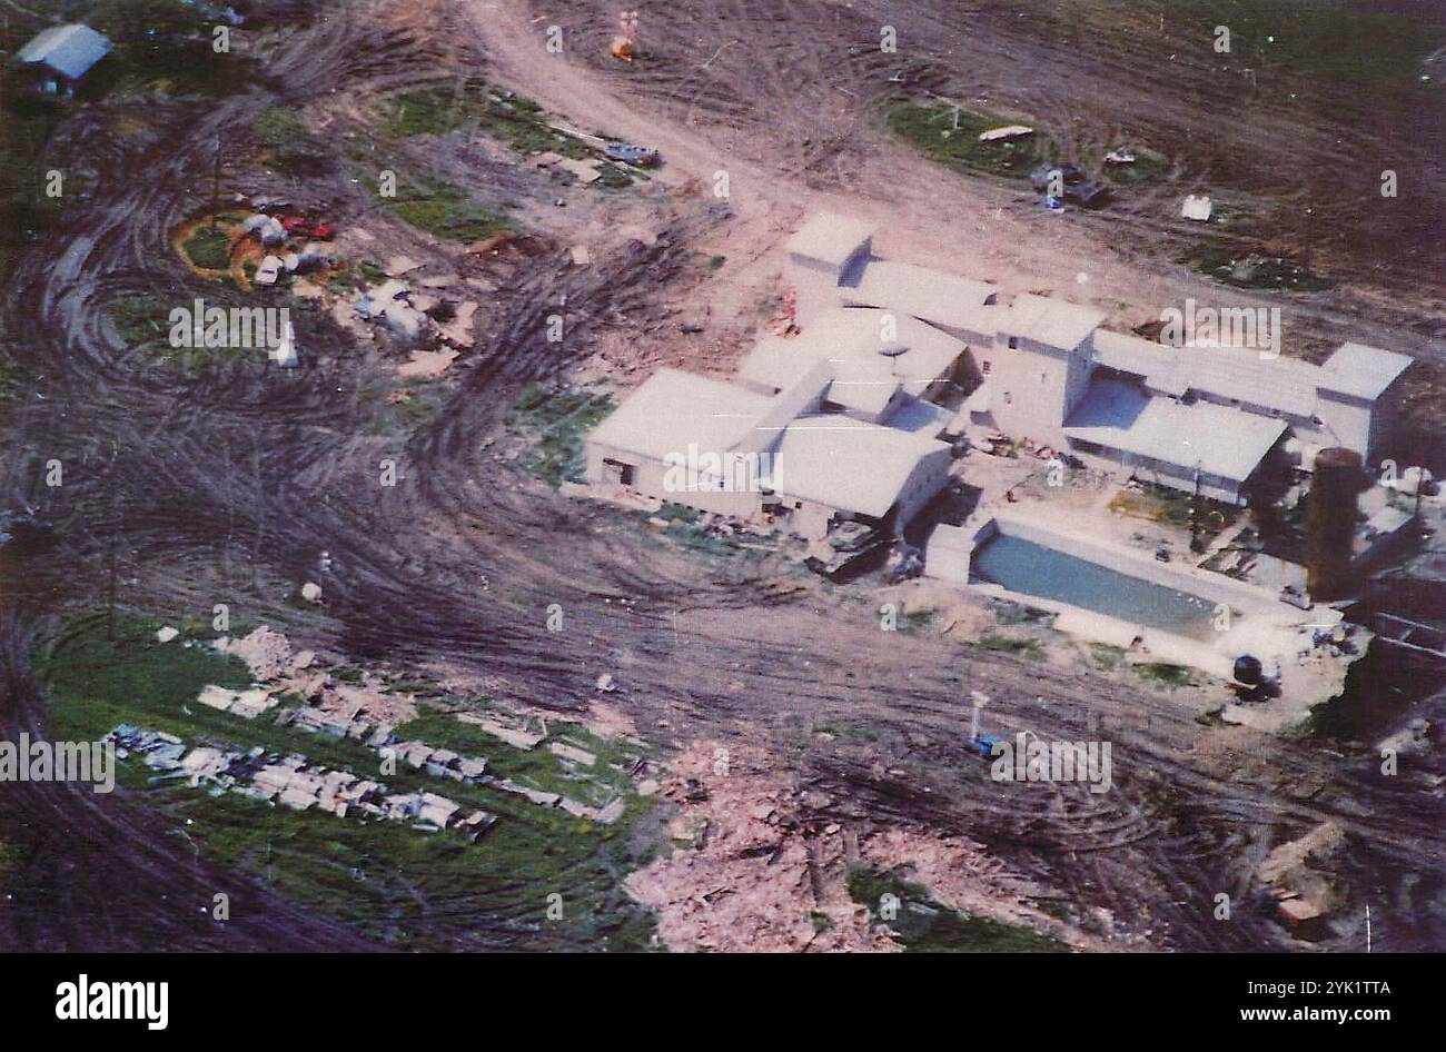
[[[850,866],[849,897],[881,918],[882,899],[894,896],[898,912],[882,920],[895,942],[917,954],[1064,954],[1069,947],[1025,925],[1001,923],[940,905],[923,884],[872,866]]]

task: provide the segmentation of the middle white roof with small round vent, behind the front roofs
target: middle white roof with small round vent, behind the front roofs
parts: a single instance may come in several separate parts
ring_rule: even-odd
[[[910,394],[923,393],[964,351],[964,344],[947,332],[897,314],[894,340],[885,341],[889,314],[869,308],[823,311],[797,337],[761,340],[743,358],[740,376],[787,390],[816,363],[827,361],[833,376],[831,402],[879,412],[901,386]]]

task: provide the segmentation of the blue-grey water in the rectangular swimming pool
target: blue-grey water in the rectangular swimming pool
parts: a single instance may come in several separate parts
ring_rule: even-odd
[[[1069,603],[1131,624],[1206,640],[1215,634],[1215,604],[1199,595],[1138,577],[1032,540],[1001,533],[973,556],[975,577],[1009,591]]]

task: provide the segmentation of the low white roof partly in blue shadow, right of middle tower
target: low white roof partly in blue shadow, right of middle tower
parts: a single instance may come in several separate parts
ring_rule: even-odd
[[[1245,481],[1285,431],[1284,421],[1197,402],[1184,406],[1098,377],[1064,425],[1069,438]]]

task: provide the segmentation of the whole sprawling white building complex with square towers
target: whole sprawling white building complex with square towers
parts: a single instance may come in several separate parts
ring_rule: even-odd
[[[1092,308],[876,259],[869,227],[827,214],[787,256],[800,331],[761,340],[736,381],[654,374],[589,435],[594,487],[810,539],[846,519],[902,530],[949,481],[940,436],[976,426],[1238,501],[1291,454],[1374,462],[1410,364],[1361,344],[1325,366],[1176,350]]]

